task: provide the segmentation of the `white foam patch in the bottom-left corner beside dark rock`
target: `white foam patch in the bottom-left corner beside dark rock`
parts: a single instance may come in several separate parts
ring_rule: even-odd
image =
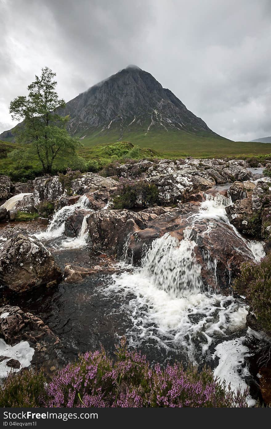
[[[27,368],[31,364],[35,350],[30,347],[27,341],[21,341],[14,346],[6,344],[6,342],[0,338],[0,356],[7,356],[7,359],[0,362],[0,378],[5,378],[9,372],[18,372],[22,368]],[[21,366],[18,369],[12,369],[6,365],[10,359],[16,359],[20,362]]]

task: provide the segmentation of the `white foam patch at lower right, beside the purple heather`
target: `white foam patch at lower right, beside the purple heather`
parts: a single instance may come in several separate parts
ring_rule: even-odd
[[[245,337],[223,341],[217,345],[214,353],[214,357],[219,358],[219,364],[214,369],[214,376],[220,378],[221,381],[225,380],[226,385],[230,384],[231,389],[235,392],[238,388],[241,388],[242,392],[247,389],[244,378],[250,376],[244,361],[245,356],[250,356],[250,350],[244,345],[244,340]],[[255,403],[255,399],[248,395],[247,404],[253,406]]]

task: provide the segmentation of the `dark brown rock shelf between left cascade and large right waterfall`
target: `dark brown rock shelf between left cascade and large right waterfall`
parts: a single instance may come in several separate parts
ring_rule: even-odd
[[[104,251],[109,255],[117,253],[118,233],[129,219],[144,228],[150,219],[156,217],[156,214],[146,211],[102,210],[90,213],[87,224],[92,250]]]

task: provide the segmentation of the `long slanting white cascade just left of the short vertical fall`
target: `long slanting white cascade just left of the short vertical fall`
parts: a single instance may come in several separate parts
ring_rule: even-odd
[[[85,195],[80,196],[78,201],[73,205],[65,205],[56,211],[53,218],[51,219],[50,224],[43,233],[36,234],[38,239],[52,239],[59,236],[62,236],[65,230],[65,221],[78,209],[88,209],[89,200]]]

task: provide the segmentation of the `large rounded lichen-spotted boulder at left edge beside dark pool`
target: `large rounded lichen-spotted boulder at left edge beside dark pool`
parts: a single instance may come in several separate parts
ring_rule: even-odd
[[[36,237],[15,232],[0,246],[0,280],[15,292],[61,280],[51,253]]]

